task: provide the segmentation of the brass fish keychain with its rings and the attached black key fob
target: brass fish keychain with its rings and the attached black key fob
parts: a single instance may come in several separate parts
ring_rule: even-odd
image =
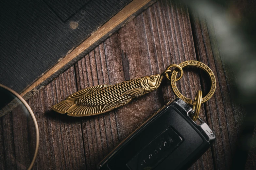
[[[202,97],[202,91],[198,90],[194,101],[183,96],[176,86],[176,81],[183,75],[182,68],[187,66],[199,67],[211,78],[210,92]],[[176,69],[171,71],[171,67]],[[180,75],[176,78],[178,72]],[[211,128],[199,117],[202,103],[213,96],[216,88],[213,71],[201,62],[185,61],[179,65],[171,64],[162,74],[114,85],[89,87],[68,96],[52,108],[62,114],[68,113],[69,116],[101,114],[156,90],[164,76],[171,81],[171,88],[177,98],[152,114],[113,149],[97,165],[97,169],[187,169],[213,145],[216,139]]]

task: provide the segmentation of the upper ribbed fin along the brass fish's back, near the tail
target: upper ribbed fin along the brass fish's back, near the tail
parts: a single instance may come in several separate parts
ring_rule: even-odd
[[[71,94],[70,96],[68,96],[66,98],[66,100],[75,101],[76,99],[78,99],[82,96],[85,96],[86,94],[90,94],[94,91],[103,89],[103,88],[108,87],[108,86],[111,86],[111,85],[110,84],[101,84],[101,85],[97,85],[97,86],[93,86],[93,87],[88,87],[86,89],[82,89],[78,92],[75,92],[75,93]]]

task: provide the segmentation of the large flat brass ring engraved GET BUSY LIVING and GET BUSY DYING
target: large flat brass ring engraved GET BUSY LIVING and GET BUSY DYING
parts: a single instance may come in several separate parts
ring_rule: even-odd
[[[213,95],[213,93],[215,92],[215,89],[216,89],[216,81],[215,81],[216,78],[215,78],[215,76],[213,74],[213,71],[207,65],[205,65],[205,64],[203,64],[201,62],[198,62],[198,61],[185,61],[183,63],[180,63],[179,66],[181,68],[184,68],[186,66],[196,66],[196,67],[199,67],[199,68],[203,69],[208,74],[208,76],[211,78],[211,83],[212,83],[211,90],[210,90],[210,92],[206,96],[204,96],[202,98],[201,102],[205,103],[207,100],[209,100],[212,97],[212,95]],[[179,90],[177,89],[177,85],[176,85],[177,73],[178,73],[178,71],[173,70],[172,76],[171,76],[171,87],[172,87],[172,90],[173,90],[174,94],[177,97],[179,97],[181,100],[183,100],[184,102],[186,102],[186,103],[188,103],[190,105],[196,105],[196,102],[193,102],[192,99],[189,99],[189,98],[183,96],[179,92]]]

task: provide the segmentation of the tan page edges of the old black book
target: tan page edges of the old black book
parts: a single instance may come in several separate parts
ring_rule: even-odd
[[[133,0],[102,27],[95,31],[89,38],[84,40],[74,50],[70,51],[70,53],[68,53],[59,63],[54,65],[32,85],[26,88],[26,90],[21,93],[21,96],[24,97],[25,100],[30,98],[40,88],[48,84],[53,80],[53,78],[57,77],[61,72],[82,58],[85,53],[93,50],[96,45],[124,26],[127,21],[134,18],[138,13],[140,13],[144,8],[150,6],[153,2],[154,0]]]

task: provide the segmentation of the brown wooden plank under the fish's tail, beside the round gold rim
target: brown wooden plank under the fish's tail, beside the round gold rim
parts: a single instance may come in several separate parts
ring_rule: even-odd
[[[76,92],[74,66],[28,101],[38,121],[37,169],[85,169],[81,120],[56,114],[51,106]]]

